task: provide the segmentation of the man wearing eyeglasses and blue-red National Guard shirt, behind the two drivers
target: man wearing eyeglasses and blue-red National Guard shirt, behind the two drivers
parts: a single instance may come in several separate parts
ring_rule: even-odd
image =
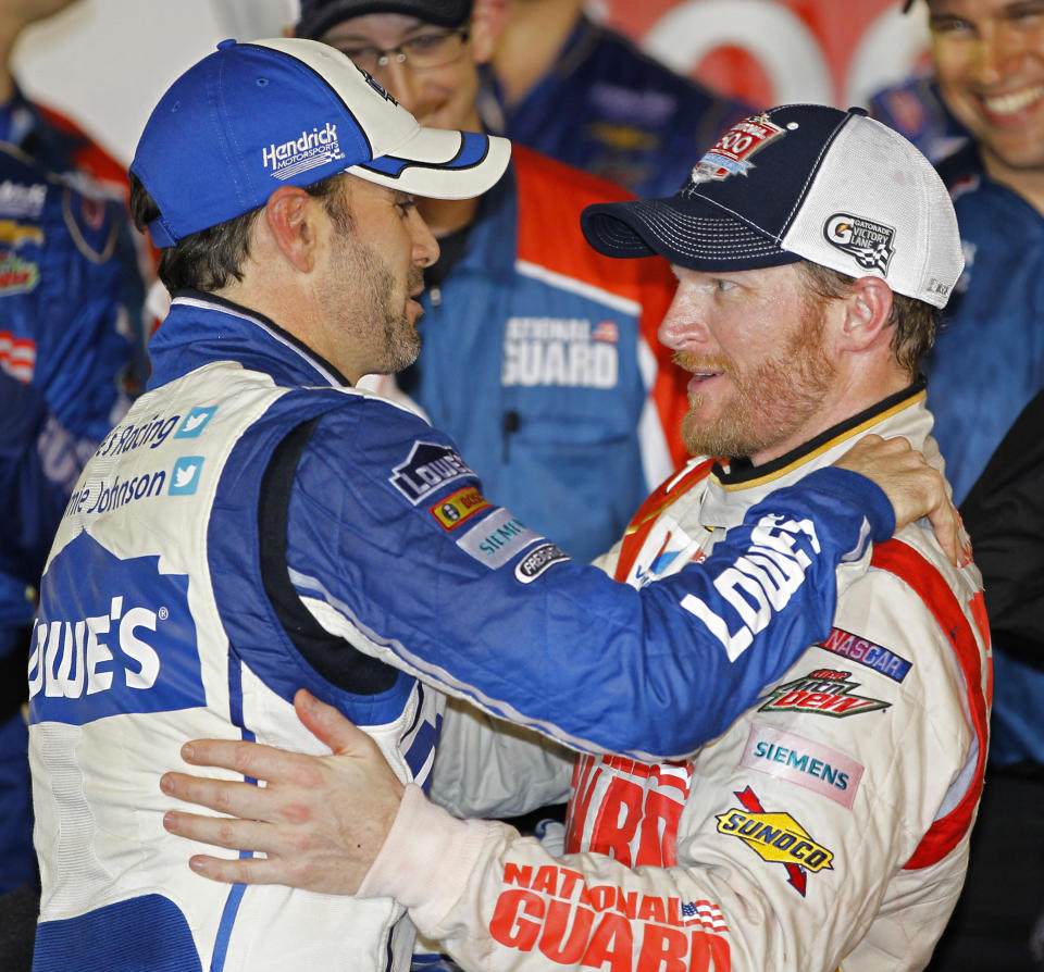
[[[303,0],[296,33],[347,53],[422,125],[481,130],[478,65],[507,7]],[[421,357],[397,376],[492,495],[583,560],[685,458],[684,382],[656,340],[673,278],[612,265],[580,234],[585,205],[624,195],[518,149],[484,197],[418,199],[442,257],[424,273]]]

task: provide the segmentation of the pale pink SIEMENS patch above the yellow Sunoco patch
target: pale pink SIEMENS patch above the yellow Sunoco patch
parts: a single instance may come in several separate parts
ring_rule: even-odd
[[[850,810],[863,768],[854,759],[796,733],[751,725],[741,767],[821,794]]]

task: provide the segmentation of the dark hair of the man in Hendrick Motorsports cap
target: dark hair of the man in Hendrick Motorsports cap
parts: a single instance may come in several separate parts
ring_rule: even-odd
[[[326,212],[344,230],[350,228],[347,180],[343,173],[306,186],[309,196],[322,199]],[[250,254],[250,230],[264,207],[250,210],[216,226],[209,226],[160,250],[159,277],[167,290],[194,289],[213,292],[232,278],[243,279],[243,264]],[[130,215],[138,229],[160,215],[160,208],[141,180],[130,175]],[[345,222],[347,221],[347,222]]]

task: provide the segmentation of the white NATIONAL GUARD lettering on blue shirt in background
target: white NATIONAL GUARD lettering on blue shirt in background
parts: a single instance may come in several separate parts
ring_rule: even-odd
[[[510,317],[504,336],[504,385],[614,388],[620,375],[619,328],[602,321]]]

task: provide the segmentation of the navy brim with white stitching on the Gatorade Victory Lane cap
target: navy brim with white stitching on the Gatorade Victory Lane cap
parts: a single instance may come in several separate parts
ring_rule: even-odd
[[[756,270],[801,259],[726,210],[681,195],[588,205],[580,225],[607,257],[659,256],[689,270]]]

